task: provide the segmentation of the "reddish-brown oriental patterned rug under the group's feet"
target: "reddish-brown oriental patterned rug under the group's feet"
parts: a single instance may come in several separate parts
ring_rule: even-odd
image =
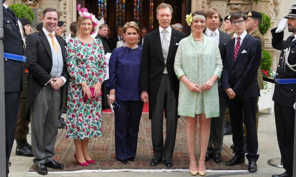
[[[163,134],[165,137],[165,119],[163,126]],[[199,132],[199,127],[197,128]],[[74,159],[75,147],[72,139],[66,138],[66,130],[59,129],[56,143],[55,156],[57,162],[64,164],[63,170],[54,170],[47,168],[48,171],[77,171],[77,170],[116,170],[116,169],[188,169],[189,155],[187,151],[187,143],[185,138],[185,118],[181,117],[178,120],[178,129],[176,136],[175,151],[173,155],[173,168],[167,168],[163,162],[156,167],[150,167],[149,162],[153,156],[152,140],[151,140],[151,124],[148,114],[143,113],[140,121],[140,130],[138,135],[138,149],[134,162],[123,164],[115,158],[115,144],[114,144],[114,115],[110,113],[103,113],[103,134],[100,138],[90,139],[88,151],[90,156],[97,161],[96,164],[90,164],[88,167],[79,166]],[[199,135],[196,138],[196,157],[199,157]],[[236,166],[225,166],[225,162],[233,157],[233,152],[223,144],[222,163],[215,163],[212,159],[206,162],[206,168],[209,170],[247,170],[246,164],[239,164]],[[198,161],[198,159],[197,159]],[[31,167],[29,172],[35,172],[35,165]]]

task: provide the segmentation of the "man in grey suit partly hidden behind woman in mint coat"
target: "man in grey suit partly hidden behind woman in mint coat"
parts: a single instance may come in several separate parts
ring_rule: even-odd
[[[205,35],[216,40],[219,46],[222,62],[224,62],[225,43],[230,41],[231,37],[229,34],[224,33],[218,29],[220,14],[217,9],[210,8],[205,11],[205,14],[207,16],[207,30],[205,31]],[[222,77],[223,76],[221,75],[220,80],[218,81],[220,116],[211,119],[211,133],[205,157],[206,161],[213,157],[214,161],[217,163],[222,162],[221,151],[223,144],[224,116],[226,111],[226,101],[222,86]]]

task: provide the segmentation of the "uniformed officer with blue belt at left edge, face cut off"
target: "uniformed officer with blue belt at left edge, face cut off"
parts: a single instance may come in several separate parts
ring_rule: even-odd
[[[18,119],[21,91],[23,90],[24,48],[25,40],[22,24],[7,5],[3,4],[3,46],[4,46],[4,82],[5,82],[5,146],[6,146],[6,176],[8,176],[8,161],[14,142],[16,123]],[[11,55],[14,54],[14,55]]]

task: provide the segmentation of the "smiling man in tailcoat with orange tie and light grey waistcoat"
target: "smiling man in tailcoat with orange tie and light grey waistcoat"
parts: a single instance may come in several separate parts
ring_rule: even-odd
[[[66,45],[63,38],[55,36],[58,18],[54,8],[44,9],[43,29],[26,38],[29,70],[26,118],[31,120],[33,162],[37,173],[42,175],[47,174],[46,167],[64,168],[53,160],[61,95],[68,78]]]

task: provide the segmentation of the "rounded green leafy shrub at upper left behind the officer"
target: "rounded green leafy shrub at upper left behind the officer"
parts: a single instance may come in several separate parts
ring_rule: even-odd
[[[33,22],[35,13],[29,6],[25,6],[23,4],[12,4],[9,7],[18,18],[27,18],[30,23]]]

